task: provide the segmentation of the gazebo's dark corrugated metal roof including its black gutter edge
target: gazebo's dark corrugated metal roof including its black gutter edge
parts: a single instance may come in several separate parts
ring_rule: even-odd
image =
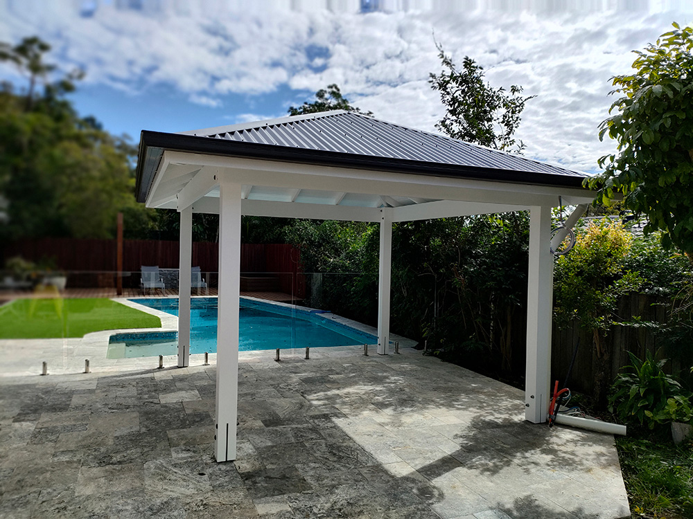
[[[419,175],[579,188],[583,172],[385,122],[331,111],[162,134],[142,131],[137,199],[144,201],[164,150]]]

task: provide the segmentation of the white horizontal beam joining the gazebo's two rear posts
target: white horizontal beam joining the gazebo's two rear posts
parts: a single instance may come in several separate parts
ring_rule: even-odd
[[[306,218],[314,220],[380,221],[376,208],[331,206],[322,203],[275,202],[265,200],[243,200],[241,210],[246,216]],[[203,197],[193,203],[193,212],[219,214],[219,199]]]

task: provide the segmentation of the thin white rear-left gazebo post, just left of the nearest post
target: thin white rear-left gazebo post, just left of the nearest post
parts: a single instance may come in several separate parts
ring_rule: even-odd
[[[190,269],[193,253],[193,208],[180,212],[178,263],[178,367],[190,364]]]

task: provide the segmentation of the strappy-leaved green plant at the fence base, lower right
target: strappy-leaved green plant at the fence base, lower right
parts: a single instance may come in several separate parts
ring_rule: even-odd
[[[631,365],[616,377],[609,409],[622,421],[647,425],[653,429],[671,421],[687,422],[693,418],[691,394],[663,370],[668,359],[655,361],[647,353],[644,361],[628,352]]]

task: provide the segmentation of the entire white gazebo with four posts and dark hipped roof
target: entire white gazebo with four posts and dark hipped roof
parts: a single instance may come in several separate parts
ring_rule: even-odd
[[[578,206],[566,221],[574,225],[593,200],[585,176],[346,111],[142,131],[137,199],[180,213],[180,367],[190,344],[192,214],[220,215],[217,461],[236,458],[241,215],[379,222],[378,354],[387,355],[393,222],[529,210],[525,418],[541,423],[550,400],[551,209],[559,197]]]

